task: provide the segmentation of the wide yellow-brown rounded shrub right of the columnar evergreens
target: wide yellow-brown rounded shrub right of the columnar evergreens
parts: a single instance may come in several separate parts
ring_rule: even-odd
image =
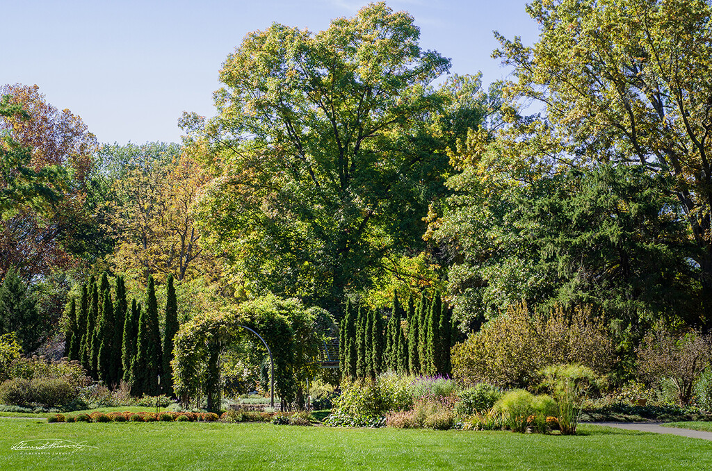
[[[522,304],[453,347],[453,376],[466,383],[529,386],[538,370],[553,364],[577,363],[606,374],[613,354],[612,339],[591,309],[531,313]]]

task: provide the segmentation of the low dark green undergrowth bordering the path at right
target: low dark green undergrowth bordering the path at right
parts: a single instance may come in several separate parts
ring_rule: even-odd
[[[712,414],[696,407],[631,406],[617,403],[582,411],[582,422],[671,422],[710,421]]]

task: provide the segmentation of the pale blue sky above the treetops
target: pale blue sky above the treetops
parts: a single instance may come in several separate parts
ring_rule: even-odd
[[[214,115],[221,63],[248,31],[278,22],[310,31],[367,1],[35,1],[0,6],[0,84],[37,84],[52,105],[80,115],[100,142],[178,142],[183,111]],[[409,11],[420,45],[452,59],[452,73],[509,71],[490,57],[492,31],[531,44],[523,0],[387,1]]]

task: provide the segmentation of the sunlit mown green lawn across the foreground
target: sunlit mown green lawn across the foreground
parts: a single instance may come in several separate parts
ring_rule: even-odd
[[[582,425],[583,435],[0,419],[0,470],[695,470],[712,443]],[[23,440],[96,448],[12,450]],[[43,442],[34,442],[43,443]],[[65,454],[61,454],[65,453]]]

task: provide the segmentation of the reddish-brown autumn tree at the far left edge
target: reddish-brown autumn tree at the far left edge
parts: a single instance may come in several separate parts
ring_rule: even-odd
[[[88,250],[95,223],[84,208],[85,183],[97,144],[80,117],[50,105],[36,85],[3,85],[1,95],[22,112],[0,113],[0,147],[16,157],[11,169],[3,159],[0,188],[23,201],[14,199],[0,221],[0,273],[14,265],[33,280],[78,263]]]

